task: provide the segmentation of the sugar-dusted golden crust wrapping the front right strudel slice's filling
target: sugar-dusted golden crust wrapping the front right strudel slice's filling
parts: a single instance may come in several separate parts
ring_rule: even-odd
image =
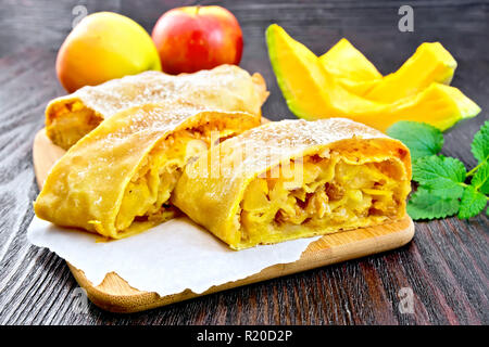
[[[336,158],[335,163],[327,162],[333,158]],[[384,175],[380,170],[392,172],[396,170],[396,174],[392,174],[392,180],[401,189],[397,192],[399,196],[396,196],[396,201],[399,201],[393,203],[397,204],[396,210],[392,210],[392,215],[388,217],[397,219],[405,214],[405,197],[410,191],[411,181],[411,159],[408,147],[380,131],[344,118],[269,123],[229,139],[187,165],[175,188],[172,202],[233,248],[253,246],[255,244],[247,241],[247,235],[243,233],[241,213],[244,193],[253,180],[263,177],[274,167],[286,166],[293,160],[304,163],[309,160],[313,164],[317,162],[325,168],[341,160],[341,167],[339,167],[341,170],[353,165],[365,165],[366,170],[378,170],[378,175]],[[385,166],[377,169],[372,163],[386,164],[375,164],[379,167]],[[372,167],[367,167],[368,165]],[[304,166],[304,170],[306,169],[308,167]],[[267,174],[265,176],[267,177]],[[266,193],[271,193],[268,190],[272,190],[273,182],[268,180],[263,184]],[[367,187],[362,189],[376,193]],[[288,193],[290,194],[290,191]],[[292,193],[297,194],[297,191]],[[269,202],[271,196],[267,195],[266,200]],[[372,218],[374,219],[377,223],[381,220]],[[259,243],[324,234],[342,229],[366,227],[368,223],[373,221],[365,219],[354,227],[353,224],[344,228],[337,226],[336,229],[310,228],[304,232],[289,230],[288,235],[280,234],[283,231],[274,229],[271,231],[276,233],[274,236],[265,237]]]

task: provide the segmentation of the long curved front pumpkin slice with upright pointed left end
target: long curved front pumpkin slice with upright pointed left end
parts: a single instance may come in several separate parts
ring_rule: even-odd
[[[394,103],[373,102],[344,89],[305,46],[274,24],[266,30],[272,67],[290,111],[309,120],[347,117],[385,131],[398,120],[422,120],[446,130],[480,108],[460,90],[432,83]]]

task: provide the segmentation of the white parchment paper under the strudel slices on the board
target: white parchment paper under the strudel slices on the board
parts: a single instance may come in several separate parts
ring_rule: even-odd
[[[34,217],[28,240],[47,247],[85,272],[98,285],[116,272],[130,286],[161,296],[237,281],[276,264],[298,260],[311,242],[300,239],[231,250],[204,229],[181,217],[123,240],[96,242],[97,235],[63,229]]]

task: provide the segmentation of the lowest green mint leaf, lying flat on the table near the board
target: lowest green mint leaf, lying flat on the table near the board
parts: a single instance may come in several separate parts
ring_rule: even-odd
[[[459,207],[457,198],[442,197],[431,191],[418,189],[408,203],[408,214],[415,220],[444,218],[455,215]]]

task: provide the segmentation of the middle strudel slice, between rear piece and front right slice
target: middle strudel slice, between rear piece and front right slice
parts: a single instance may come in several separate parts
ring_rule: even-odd
[[[168,180],[165,175],[176,180],[189,159],[178,153],[187,150],[178,147],[179,139],[186,139],[184,145],[190,140],[204,141],[206,149],[209,139],[203,137],[209,131],[229,137],[258,125],[254,115],[179,102],[125,110],[102,121],[54,165],[34,205],[35,213],[55,224],[114,239],[142,231],[167,217],[163,205],[173,187],[163,191],[160,187]],[[134,201],[130,194],[136,194]],[[141,206],[147,210],[124,215],[135,214],[134,208]]]

